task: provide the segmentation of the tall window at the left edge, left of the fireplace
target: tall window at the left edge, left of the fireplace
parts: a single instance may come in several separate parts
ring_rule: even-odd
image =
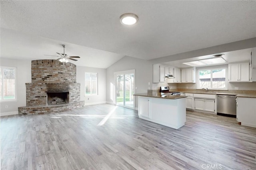
[[[0,101],[17,100],[16,96],[16,67],[0,67]]]

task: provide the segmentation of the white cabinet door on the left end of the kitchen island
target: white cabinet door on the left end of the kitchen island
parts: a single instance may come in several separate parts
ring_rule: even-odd
[[[140,116],[151,118],[151,99],[140,97],[138,100]]]

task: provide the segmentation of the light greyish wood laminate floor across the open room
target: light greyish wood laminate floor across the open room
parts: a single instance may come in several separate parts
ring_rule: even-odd
[[[256,169],[256,128],[187,111],[172,129],[109,104],[1,117],[2,170]]]

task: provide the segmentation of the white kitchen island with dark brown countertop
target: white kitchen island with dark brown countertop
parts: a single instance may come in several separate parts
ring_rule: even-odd
[[[138,96],[139,118],[179,129],[186,122],[186,97],[161,93]]]

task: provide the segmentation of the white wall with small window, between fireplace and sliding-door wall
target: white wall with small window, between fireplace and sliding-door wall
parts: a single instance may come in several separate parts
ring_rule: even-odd
[[[98,95],[85,95],[85,72],[98,73]],[[106,103],[106,69],[76,66],[76,82],[81,84],[80,100],[85,105]]]

